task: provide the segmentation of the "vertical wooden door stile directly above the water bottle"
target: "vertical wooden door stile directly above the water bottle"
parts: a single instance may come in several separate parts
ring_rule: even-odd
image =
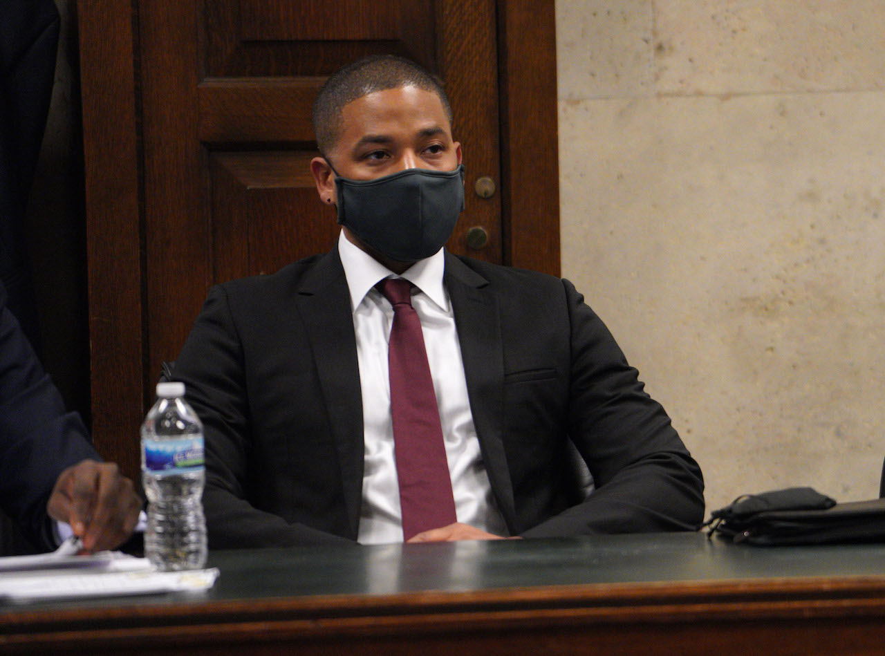
[[[197,139],[198,4],[137,0],[144,149],[145,405],[212,284],[208,153]]]

